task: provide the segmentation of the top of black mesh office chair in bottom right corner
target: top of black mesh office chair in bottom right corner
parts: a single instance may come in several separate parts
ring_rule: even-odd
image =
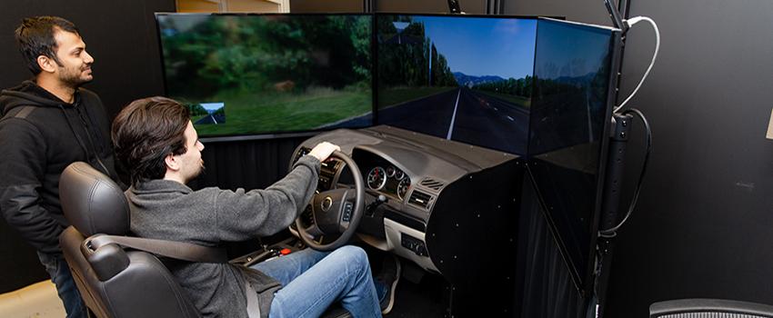
[[[650,318],[773,318],[773,306],[721,299],[678,299],[649,306]]]

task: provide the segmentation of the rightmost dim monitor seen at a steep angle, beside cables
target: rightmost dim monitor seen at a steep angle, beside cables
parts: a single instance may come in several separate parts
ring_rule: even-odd
[[[590,282],[618,29],[539,19],[527,171],[578,288]]]

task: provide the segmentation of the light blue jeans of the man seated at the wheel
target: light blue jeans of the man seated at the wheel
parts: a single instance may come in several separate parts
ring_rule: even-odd
[[[327,253],[307,248],[252,268],[282,283],[269,317],[319,317],[336,301],[355,317],[381,317],[370,264],[359,247]]]

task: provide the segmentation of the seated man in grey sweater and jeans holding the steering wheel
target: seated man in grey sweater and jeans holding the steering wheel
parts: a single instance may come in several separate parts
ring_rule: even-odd
[[[186,186],[204,169],[196,129],[182,104],[140,99],[116,117],[115,154],[131,175],[126,190],[131,230],[140,237],[219,246],[276,234],[291,224],[316,189],[320,162],[338,149],[316,145],[293,171],[266,188],[236,192]],[[331,253],[306,249],[252,268],[231,263],[167,262],[204,317],[316,317],[340,302],[355,317],[391,309],[397,275],[376,286],[366,253],[344,246]],[[398,269],[397,269],[398,270]]]

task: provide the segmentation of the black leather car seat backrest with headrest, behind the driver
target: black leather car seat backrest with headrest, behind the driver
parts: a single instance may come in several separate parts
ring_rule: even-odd
[[[199,317],[174,276],[156,256],[115,243],[94,248],[96,235],[129,233],[129,205],[121,188],[89,164],[68,165],[59,198],[72,224],[59,237],[86,306],[98,317]]]

